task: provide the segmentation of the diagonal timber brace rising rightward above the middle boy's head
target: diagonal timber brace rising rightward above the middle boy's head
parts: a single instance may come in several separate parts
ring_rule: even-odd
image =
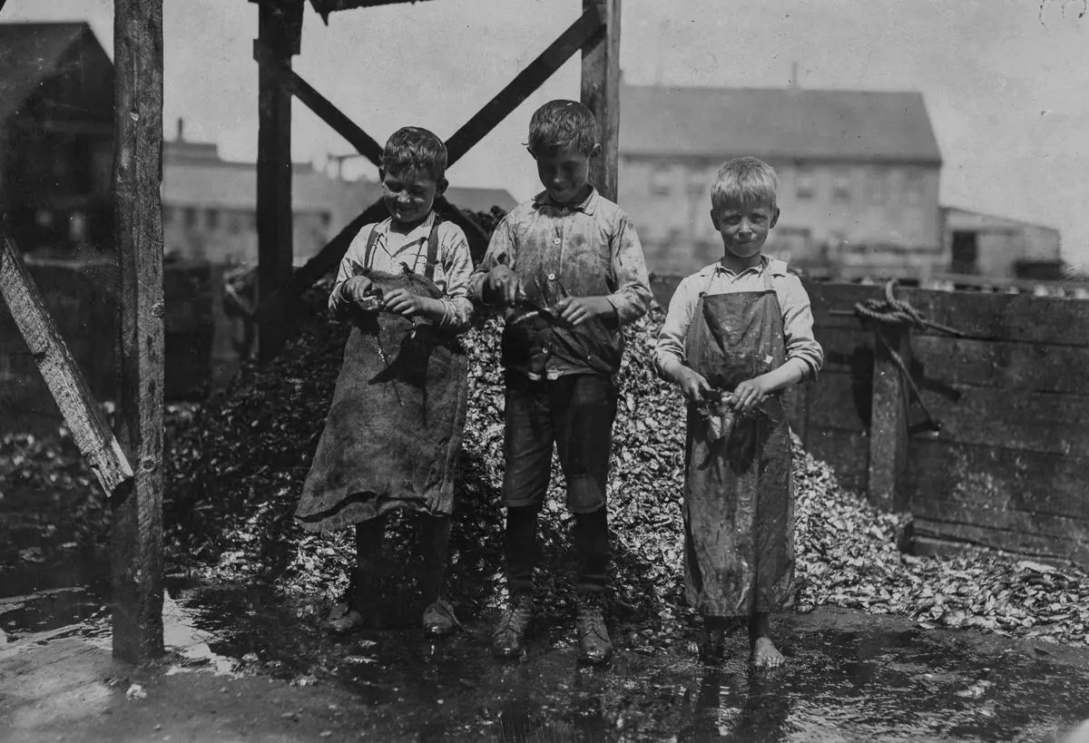
[[[614,0],[615,1],[615,0]],[[477,111],[446,141],[446,165],[457,162],[469,149],[511,114],[522,101],[533,95],[572,54],[582,49],[590,39],[600,34],[604,22],[597,3],[587,8],[577,21],[560,34],[537,59],[514,76],[494,98]]]

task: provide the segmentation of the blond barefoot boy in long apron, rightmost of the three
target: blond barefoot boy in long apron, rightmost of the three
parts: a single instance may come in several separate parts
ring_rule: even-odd
[[[722,260],[670,301],[656,367],[688,399],[685,582],[705,618],[701,653],[718,657],[726,620],[748,619],[752,661],[783,662],[768,614],[794,577],[791,438],[781,391],[820,369],[809,296],[763,255],[779,220],[775,171],[756,158],[715,175],[711,220]]]

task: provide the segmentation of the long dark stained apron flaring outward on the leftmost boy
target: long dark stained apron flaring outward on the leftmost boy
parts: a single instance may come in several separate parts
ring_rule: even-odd
[[[439,299],[436,217],[424,276],[370,268],[372,230],[360,276]],[[423,248],[421,248],[423,249]],[[417,260],[419,256],[417,255]],[[352,332],[314,463],[295,516],[303,528],[328,532],[403,508],[453,510],[457,454],[465,426],[468,365],[457,337],[429,322],[353,308]]]

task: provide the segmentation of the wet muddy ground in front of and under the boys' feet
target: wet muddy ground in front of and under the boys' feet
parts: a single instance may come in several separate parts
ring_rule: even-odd
[[[564,616],[501,663],[487,616],[430,644],[392,606],[391,626],[334,640],[326,606],[171,580],[170,654],[131,669],[109,658],[101,550],[5,510],[7,740],[1053,741],[1089,718],[1089,651],[837,609],[776,619],[779,671],[751,670],[739,635],[709,666],[688,631],[662,649],[625,624],[614,662],[592,669]]]

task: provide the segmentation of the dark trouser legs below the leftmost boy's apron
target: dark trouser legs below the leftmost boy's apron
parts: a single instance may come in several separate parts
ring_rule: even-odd
[[[443,588],[450,561],[450,516],[420,514],[419,541],[424,556],[420,593],[430,605]],[[352,575],[353,608],[375,600],[382,582],[382,540],[386,538],[386,515],[355,525],[355,572]]]

